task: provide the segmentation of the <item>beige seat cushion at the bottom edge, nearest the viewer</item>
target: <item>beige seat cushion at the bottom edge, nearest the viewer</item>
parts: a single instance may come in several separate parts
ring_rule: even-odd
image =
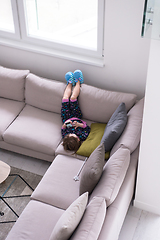
[[[31,200],[7,240],[48,240],[64,210]]]

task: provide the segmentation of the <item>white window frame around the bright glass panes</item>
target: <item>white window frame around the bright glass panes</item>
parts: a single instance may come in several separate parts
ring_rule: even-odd
[[[27,34],[27,26],[26,26],[26,16],[24,10],[24,0],[11,0],[12,2],[12,11],[13,11],[13,19],[15,25],[15,33],[5,32],[2,33],[0,31],[0,36],[8,37],[12,39],[18,39],[19,43],[23,43],[26,48],[26,44],[31,46],[31,49],[34,51],[34,47],[42,47],[47,49],[55,49],[61,52],[68,52],[72,54],[80,54],[81,56],[90,56],[95,58],[103,57],[103,26],[104,26],[104,1],[98,0],[98,31],[97,31],[97,51],[79,48],[73,45],[65,45],[59,42],[47,41],[42,38],[36,38],[28,36]]]

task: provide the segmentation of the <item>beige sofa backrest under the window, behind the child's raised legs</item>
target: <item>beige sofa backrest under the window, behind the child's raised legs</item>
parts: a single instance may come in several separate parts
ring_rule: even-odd
[[[29,74],[26,78],[25,102],[43,110],[60,113],[66,84]],[[124,102],[127,111],[135,104],[132,93],[107,91],[87,84],[81,85],[79,104],[83,118],[107,123],[113,112]]]

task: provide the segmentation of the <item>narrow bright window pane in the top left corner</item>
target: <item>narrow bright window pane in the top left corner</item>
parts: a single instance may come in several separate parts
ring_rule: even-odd
[[[15,31],[11,0],[0,0],[0,30]]]

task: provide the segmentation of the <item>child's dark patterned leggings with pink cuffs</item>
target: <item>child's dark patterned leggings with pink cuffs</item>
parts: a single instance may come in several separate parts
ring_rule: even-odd
[[[61,118],[64,123],[69,118],[82,118],[82,112],[78,104],[78,100],[70,100],[66,99],[62,101],[61,107]]]

